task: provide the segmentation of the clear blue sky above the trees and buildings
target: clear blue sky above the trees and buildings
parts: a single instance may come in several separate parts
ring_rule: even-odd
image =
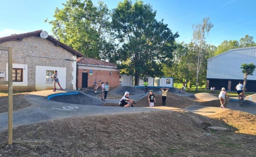
[[[109,9],[123,0],[101,0]],[[135,0],[132,0],[135,2]],[[210,17],[213,28],[206,41],[218,46],[224,40],[240,40],[249,35],[256,41],[256,1],[254,0],[142,0],[157,11],[156,19],[172,32],[178,32],[178,42],[189,43],[192,25]],[[92,0],[97,5],[98,0]],[[26,33],[42,29],[51,33],[52,26],[45,23],[53,20],[55,8],[63,8],[66,0],[4,0],[0,5],[0,37],[13,33]]]

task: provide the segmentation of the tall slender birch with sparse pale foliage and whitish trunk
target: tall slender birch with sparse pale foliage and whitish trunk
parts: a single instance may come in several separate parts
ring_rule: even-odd
[[[201,24],[197,24],[195,27],[193,25],[193,42],[195,48],[197,49],[197,84],[196,91],[198,90],[198,78],[201,69],[203,60],[205,59],[204,48],[206,46],[205,33],[209,33],[210,29],[213,27],[213,24],[209,21],[210,18],[204,18]]]

